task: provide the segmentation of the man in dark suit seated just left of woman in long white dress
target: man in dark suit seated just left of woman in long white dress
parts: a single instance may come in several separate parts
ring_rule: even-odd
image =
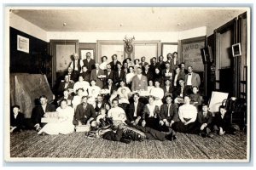
[[[32,110],[32,127],[35,127],[37,131],[41,129],[41,127],[44,127],[44,123],[41,122],[41,118],[44,117],[44,114],[46,112],[53,112],[56,111],[55,106],[48,104],[47,97],[45,95],[42,95],[39,97],[39,101],[41,105],[37,105]]]

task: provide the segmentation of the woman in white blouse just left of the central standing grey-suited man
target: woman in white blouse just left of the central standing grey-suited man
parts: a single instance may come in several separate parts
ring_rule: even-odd
[[[131,97],[131,90],[125,86],[125,81],[120,80],[120,88],[118,89],[119,94],[119,105],[125,110],[126,106],[130,104],[129,98]]]

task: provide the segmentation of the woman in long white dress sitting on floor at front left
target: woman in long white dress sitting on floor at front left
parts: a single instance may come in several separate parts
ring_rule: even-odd
[[[74,132],[73,108],[67,105],[67,99],[61,100],[61,106],[56,109],[57,122],[47,123],[38,134],[68,134]]]

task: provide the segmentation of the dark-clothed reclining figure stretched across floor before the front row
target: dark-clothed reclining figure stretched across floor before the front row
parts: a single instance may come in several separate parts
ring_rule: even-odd
[[[175,140],[176,136],[174,132],[161,133],[150,127],[142,126],[127,126],[120,123],[117,130],[114,132],[112,128],[101,129],[96,133],[96,138],[102,138],[112,141],[120,141],[129,144],[131,140],[143,141],[144,139],[157,139],[160,141]]]

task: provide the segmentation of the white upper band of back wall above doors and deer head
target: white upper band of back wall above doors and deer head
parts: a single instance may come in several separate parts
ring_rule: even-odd
[[[189,31],[170,32],[47,32],[47,42],[50,39],[78,39],[79,42],[94,42],[97,40],[123,40],[127,37],[135,37],[136,40],[160,40],[160,42],[177,42],[190,37],[206,36],[207,27],[203,26]]]

